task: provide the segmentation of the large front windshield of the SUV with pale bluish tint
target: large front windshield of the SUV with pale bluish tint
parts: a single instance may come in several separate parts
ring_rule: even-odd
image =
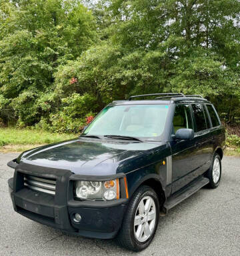
[[[157,139],[163,134],[168,110],[168,105],[108,106],[95,117],[83,135]]]

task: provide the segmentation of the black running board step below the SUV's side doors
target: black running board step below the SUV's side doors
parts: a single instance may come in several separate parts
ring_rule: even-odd
[[[199,177],[192,183],[190,183],[187,187],[182,189],[181,191],[178,191],[177,193],[171,195],[166,201],[166,203],[163,205],[163,209],[165,210],[165,213],[171,208],[173,208],[175,205],[181,203],[184,199],[187,197],[190,197],[195,192],[197,192],[199,189],[204,187],[209,183],[209,179],[206,177]]]

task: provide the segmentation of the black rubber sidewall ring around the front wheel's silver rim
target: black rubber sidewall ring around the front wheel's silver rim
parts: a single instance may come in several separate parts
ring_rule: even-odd
[[[153,232],[151,233],[151,236],[144,242],[139,242],[137,240],[137,238],[135,237],[135,233],[134,233],[134,219],[135,219],[135,213],[137,211],[137,207],[141,201],[141,199],[143,199],[143,197],[149,196],[153,199],[155,206],[156,206],[156,219],[155,219],[155,227],[153,229]],[[145,249],[146,247],[149,246],[149,244],[151,243],[151,241],[153,240],[153,237],[155,235],[155,232],[157,230],[157,224],[159,221],[159,199],[157,197],[157,194],[155,193],[155,191],[153,189],[151,189],[151,187],[147,187],[145,188],[145,191],[143,191],[143,193],[141,193],[140,195],[137,196],[137,198],[135,198],[134,201],[134,207],[133,207],[133,211],[131,212],[131,240],[132,243],[134,245],[134,247],[136,248],[136,251],[141,251],[143,249]]]

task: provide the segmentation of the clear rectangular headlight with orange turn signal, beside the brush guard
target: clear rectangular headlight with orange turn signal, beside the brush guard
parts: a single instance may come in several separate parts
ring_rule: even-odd
[[[119,179],[111,181],[75,181],[75,196],[85,200],[119,199]]]

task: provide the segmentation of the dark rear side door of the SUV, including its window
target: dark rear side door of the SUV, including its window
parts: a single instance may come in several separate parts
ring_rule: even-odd
[[[210,167],[213,154],[213,135],[211,135],[211,123],[204,104],[191,104],[194,123],[194,177],[203,174]]]

